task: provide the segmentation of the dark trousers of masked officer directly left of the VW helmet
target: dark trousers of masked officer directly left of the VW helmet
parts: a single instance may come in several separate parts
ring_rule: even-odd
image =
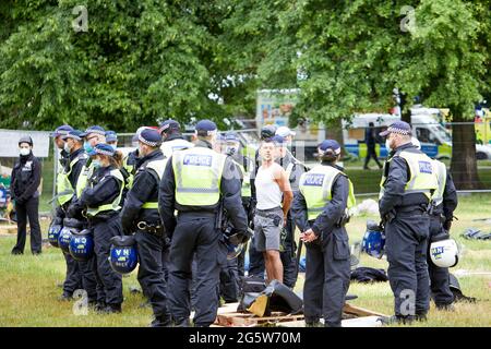
[[[122,228],[118,216],[91,222],[94,229],[95,276],[98,285],[98,301],[120,305],[123,301],[121,275],[112,270],[109,264],[110,238],[120,236]]]

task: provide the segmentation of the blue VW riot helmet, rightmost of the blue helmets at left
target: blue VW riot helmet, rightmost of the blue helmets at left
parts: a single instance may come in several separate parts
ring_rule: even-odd
[[[136,242],[133,236],[117,236],[110,239],[111,250],[109,253],[109,264],[119,274],[130,274],[139,264]]]

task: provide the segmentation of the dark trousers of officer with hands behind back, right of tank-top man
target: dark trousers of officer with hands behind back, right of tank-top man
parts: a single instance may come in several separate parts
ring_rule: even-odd
[[[306,244],[306,322],[322,316],[325,326],[339,327],[350,278],[348,234],[345,228],[335,228],[318,240]]]

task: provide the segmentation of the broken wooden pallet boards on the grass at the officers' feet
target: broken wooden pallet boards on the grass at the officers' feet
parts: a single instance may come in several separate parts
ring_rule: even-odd
[[[285,326],[285,327],[303,327],[304,316],[289,315],[282,312],[273,312],[270,316],[256,316],[251,313],[238,313],[239,303],[226,304],[218,309],[217,318],[214,327],[256,327],[256,326]],[[375,323],[375,317],[386,316],[382,313],[373,312],[368,309],[345,304],[344,308],[344,325],[346,327],[370,326]],[[364,318],[363,318],[364,317]],[[363,321],[361,321],[363,318]],[[346,323],[345,323],[346,322]]]

